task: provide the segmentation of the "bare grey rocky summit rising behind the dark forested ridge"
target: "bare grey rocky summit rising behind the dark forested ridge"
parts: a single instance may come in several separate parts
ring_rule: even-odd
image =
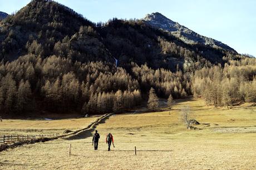
[[[164,31],[169,32],[170,34],[184,41],[185,43],[200,43],[204,45],[209,45],[214,48],[223,48],[229,51],[234,51],[233,48],[227,46],[226,44],[221,43],[220,41],[216,41],[213,38],[201,36],[200,34],[190,30],[189,28],[181,26],[178,22],[171,21],[171,19],[166,18],[165,16],[163,16],[163,14],[159,12],[147,14],[146,17],[142,19],[142,21],[146,22],[154,28],[163,29]]]

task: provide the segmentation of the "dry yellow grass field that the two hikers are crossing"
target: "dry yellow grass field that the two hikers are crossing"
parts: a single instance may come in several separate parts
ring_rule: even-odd
[[[190,106],[190,118],[210,125],[187,130],[180,118],[183,106]],[[46,128],[89,123],[71,120]],[[27,128],[21,122],[12,123],[17,123],[17,129]],[[46,125],[32,127],[40,126]],[[177,100],[170,111],[111,116],[97,130],[98,151],[91,137],[24,145],[0,152],[0,169],[256,169],[256,107],[252,106],[214,108],[200,99]],[[115,142],[110,152],[105,143],[108,132]],[[71,156],[68,144],[72,144]]]

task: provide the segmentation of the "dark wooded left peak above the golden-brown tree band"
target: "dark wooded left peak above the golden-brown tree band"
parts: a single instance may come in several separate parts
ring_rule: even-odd
[[[81,62],[99,58],[114,62],[93,31],[94,24],[54,1],[31,1],[0,27],[0,59],[12,61],[35,53],[43,58],[56,54]]]

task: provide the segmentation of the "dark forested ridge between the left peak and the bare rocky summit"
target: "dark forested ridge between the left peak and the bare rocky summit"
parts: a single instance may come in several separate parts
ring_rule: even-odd
[[[140,20],[114,18],[96,30],[119,66],[147,63],[151,68],[192,71],[211,64],[224,64],[224,56],[237,52],[205,44],[189,44]],[[233,55],[234,54],[234,55]],[[177,67],[178,65],[178,67]]]

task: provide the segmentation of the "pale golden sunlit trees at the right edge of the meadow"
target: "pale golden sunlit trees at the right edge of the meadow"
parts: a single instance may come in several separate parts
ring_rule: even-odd
[[[224,67],[204,67],[195,71],[192,84],[194,96],[209,105],[256,102],[256,59],[247,57],[229,60]]]

